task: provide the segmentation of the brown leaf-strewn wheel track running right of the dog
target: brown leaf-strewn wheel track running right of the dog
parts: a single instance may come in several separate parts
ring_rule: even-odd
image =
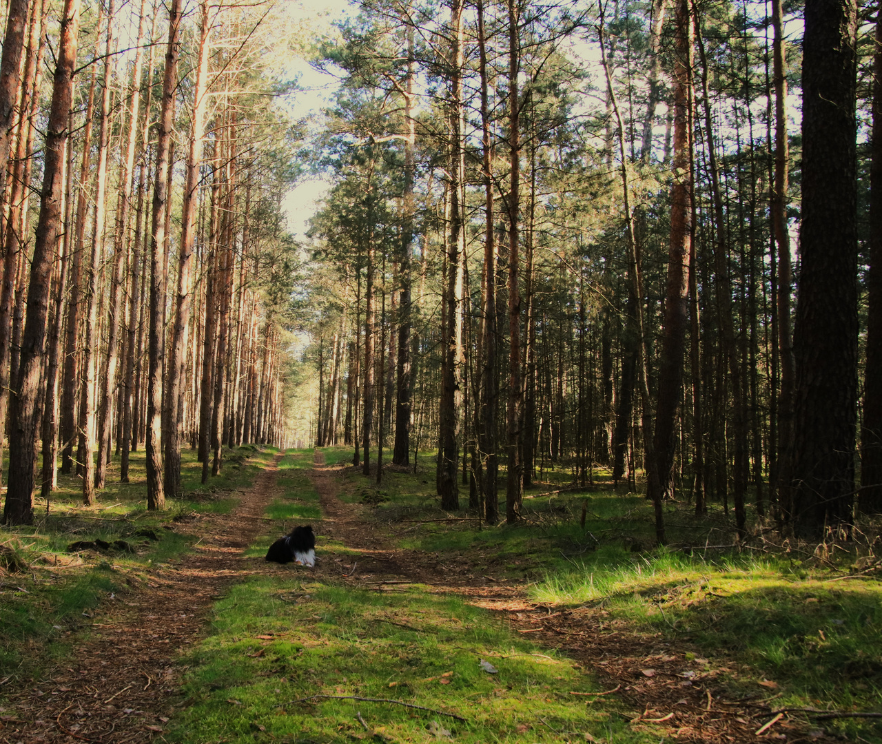
[[[529,599],[525,584],[482,573],[492,573],[492,569],[477,569],[475,563],[485,565],[486,556],[467,551],[443,556],[392,547],[392,525],[371,519],[370,507],[340,500],[345,469],[324,465],[317,450],[310,477],[325,515],[318,551],[320,555],[321,538],[330,537],[359,554],[349,565],[329,566],[319,558],[318,576],[373,591],[401,591],[401,584],[413,583],[424,585],[430,593],[456,592],[469,604],[492,611],[513,631],[528,634],[534,643],[574,659],[607,690],[605,696],[616,696],[626,709],[636,711],[632,726],[663,740],[670,737],[701,744],[841,741],[786,717],[777,718],[774,726],[758,736],[756,732],[774,718],[769,712],[774,706],[771,701],[779,695],[760,687],[733,699],[727,694],[732,681],[744,688],[744,682],[756,674],[726,658],[723,649],[714,654],[713,661],[701,658],[699,648],[691,644],[671,642],[666,634],[647,633],[617,621],[603,608],[605,600],[564,610],[536,603]],[[596,702],[603,699],[598,697]]]

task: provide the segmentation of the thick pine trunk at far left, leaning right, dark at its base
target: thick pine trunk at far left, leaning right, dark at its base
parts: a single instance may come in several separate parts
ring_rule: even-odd
[[[73,100],[73,71],[77,61],[79,0],[65,0],[58,41],[52,103],[46,132],[40,216],[34,239],[27,316],[21,347],[17,394],[12,398],[9,487],[4,504],[7,525],[31,524],[34,520],[34,465],[39,440],[40,376],[46,316],[49,305],[49,277],[62,217],[64,149],[69,132],[68,113]]]

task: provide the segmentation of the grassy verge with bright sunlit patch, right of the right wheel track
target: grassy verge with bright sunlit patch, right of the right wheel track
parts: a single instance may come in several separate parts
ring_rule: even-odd
[[[440,510],[434,474],[427,459],[417,473],[389,469],[377,487],[347,469],[345,498],[373,506],[377,529],[391,522],[389,537],[401,547],[526,581],[538,602],[580,607],[609,627],[662,636],[711,665],[737,668],[717,678],[732,697],[772,690],[781,707],[882,712],[882,581],[878,571],[843,578],[877,560],[860,557],[855,545],[833,554],[829,547],[815,554],[813,545],[766,554],[759,541],[759,549],[738,554],[721,547],[734,542],[734,526],[718,507],[696,518],[686,505],[672,504],[672,545],[659,550],[651,504],[642,496],[609,484],[549,494],[561,487],[559,479],[527,492],[518,524],[488,527],[464,518],[465,509]],[[467,495],[460,486],[464,507]],[[878,525],[867,526],[869,543]],[[882,725],[871,719],[826,726],[849,740],[882,741]]]

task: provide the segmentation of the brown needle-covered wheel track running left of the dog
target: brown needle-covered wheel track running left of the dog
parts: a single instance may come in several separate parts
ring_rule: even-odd
[[[263,570],[262,561],[246,562],[243,551],[268,528],[264,510],[280,493],[281,457],[240,492],[229,514],[187,525],[200,538],[191,552],[151,570],[133,591],[101,602],[92,632],[62,666],[9,696],[16,715],[4,721],[0,742],[140,744],[161,733],[185,671],[180,655],[205,636],[220,595]]]

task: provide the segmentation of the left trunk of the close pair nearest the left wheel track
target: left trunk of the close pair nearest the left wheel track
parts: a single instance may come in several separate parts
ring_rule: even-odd
[[[177,59],[180,54],[181,0],[168,9],[168,49],[162,78],[162,105],[156,140],[156,171],[153,177],[153,215],[150,222],[150,326],[147,360],[147,509],[165,508],[162,478],[162,360],[165,355],[166,272],[165,216],[168,210],[168,169],[175,127]]]

